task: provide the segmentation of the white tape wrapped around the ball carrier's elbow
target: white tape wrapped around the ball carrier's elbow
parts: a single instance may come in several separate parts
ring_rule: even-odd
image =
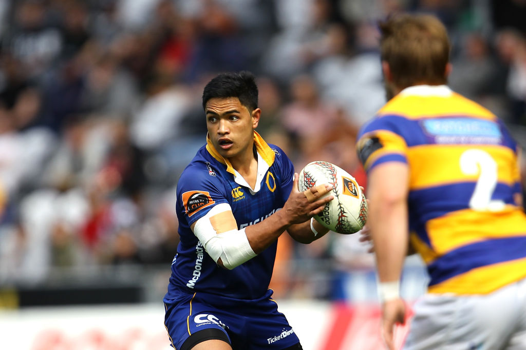
[[[210,217],[227,210],[232,210],[227,203],[218,204],[210,209],[204,217],[196,221],[194,234],[214,261],[217,262],[221,258],[223,266],[231,270],[254,258],[256,253],[250,247],[245,228],[216,233]]]

